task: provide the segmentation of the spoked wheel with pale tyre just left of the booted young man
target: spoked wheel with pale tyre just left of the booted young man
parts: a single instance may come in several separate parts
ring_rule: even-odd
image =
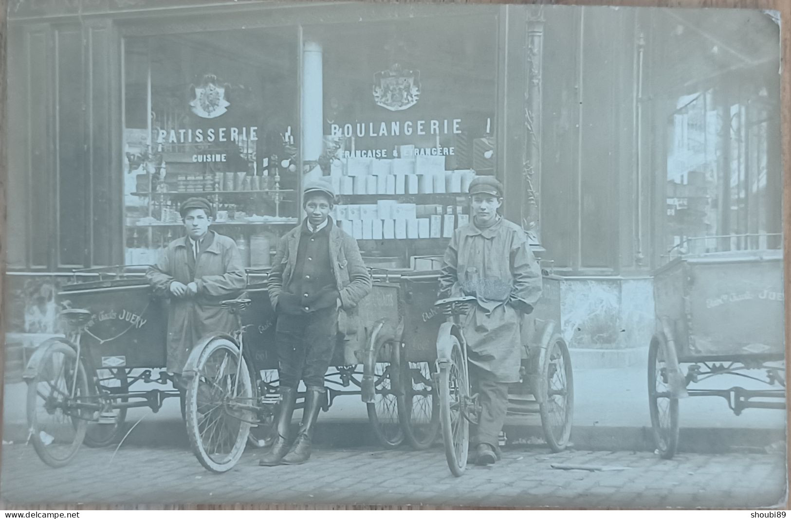
[[[250,371],[233,340],[218,337],[206,344],[184,400],[195,457],[212,472],[229,471],[255,419],[248,410],[254,404]]]

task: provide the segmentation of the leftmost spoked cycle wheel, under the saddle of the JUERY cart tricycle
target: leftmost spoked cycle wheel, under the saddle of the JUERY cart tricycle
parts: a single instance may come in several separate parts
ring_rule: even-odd
[[[74,348],[61,342],[47,347],[36,366],[36,376],[28,381],[30,440],[41,461],[51,467],[71,461],[85,438],[90,418],[89,412],[74,406],[89,397],[85,367]]]

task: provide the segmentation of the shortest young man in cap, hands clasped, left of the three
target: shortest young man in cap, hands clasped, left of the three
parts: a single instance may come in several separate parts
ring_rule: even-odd
[[[187,235],[174,239],[146,272],[154,290],[170,297],[166,369],[175,375],[176,387],[191,348],[203,335],[236,328],[220,303],[237,297],[247,284],[237,244],[209,230],[209,201],[189,198],[180,213]]]

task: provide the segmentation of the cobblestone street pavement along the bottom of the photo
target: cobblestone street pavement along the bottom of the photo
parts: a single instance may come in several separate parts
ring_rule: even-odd
[[[326,505],[560,506],[563,508],[775,506],[785,499],[782,454],[653,453],[509,449],[490,468],[453,477],[441,449],[320,449],[298,466],[260,468],[248,449],[231,472],[204,470],[188,450],[82,448],[49,468],[32,446],[3,446],[0,495],[12,503],[279,502]],[[626,467],[589,472],[551,464]]]

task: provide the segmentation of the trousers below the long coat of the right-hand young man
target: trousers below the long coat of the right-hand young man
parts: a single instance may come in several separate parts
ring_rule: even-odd
[[[505,423],[505,412],[508,410],[509,384],[492,380],[485,370],[474,364],[470,364],[470,379],[472,391],[478,393],[478,403],[481,406],[478,425],[471,426],[472,445],[488,443],[496,449]]]

